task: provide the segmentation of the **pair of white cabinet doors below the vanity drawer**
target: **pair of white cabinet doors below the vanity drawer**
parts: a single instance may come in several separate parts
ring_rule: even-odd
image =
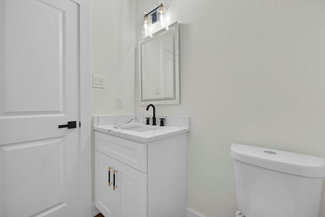
[[[96,201],[105,217],[147,216],[147,174],[95,151]]]

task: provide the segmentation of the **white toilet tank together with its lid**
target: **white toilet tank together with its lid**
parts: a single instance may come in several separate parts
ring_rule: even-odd
[[[242,144],[231,156],[245,217],[319,217],[325,159]]]

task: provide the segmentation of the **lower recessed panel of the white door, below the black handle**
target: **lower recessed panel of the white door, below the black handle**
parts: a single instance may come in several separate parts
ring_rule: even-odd
[[[60,181],[64,156],[64,138],[49,139],[38,142],[26,142],[1,147],[3,194],[8,213],[12,216],[30,216],[63,201],[64,192]],[[37,154],[42,152],[42,154]],[[44,162],[46,162],[44,164]],[[51,195],[51,197],[48,197]],[[21,209],[21,204],[33,206]]]

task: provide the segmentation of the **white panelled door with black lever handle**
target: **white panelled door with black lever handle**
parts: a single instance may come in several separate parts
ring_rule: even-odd
[[[1,217],[81,215],[78,13],[0,0]]]

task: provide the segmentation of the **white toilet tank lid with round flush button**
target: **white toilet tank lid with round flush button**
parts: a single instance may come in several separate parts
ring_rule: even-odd
[[[306,177],[324,177],[325,159],[306,154],[232,144],[231,156],[241,162]]]

